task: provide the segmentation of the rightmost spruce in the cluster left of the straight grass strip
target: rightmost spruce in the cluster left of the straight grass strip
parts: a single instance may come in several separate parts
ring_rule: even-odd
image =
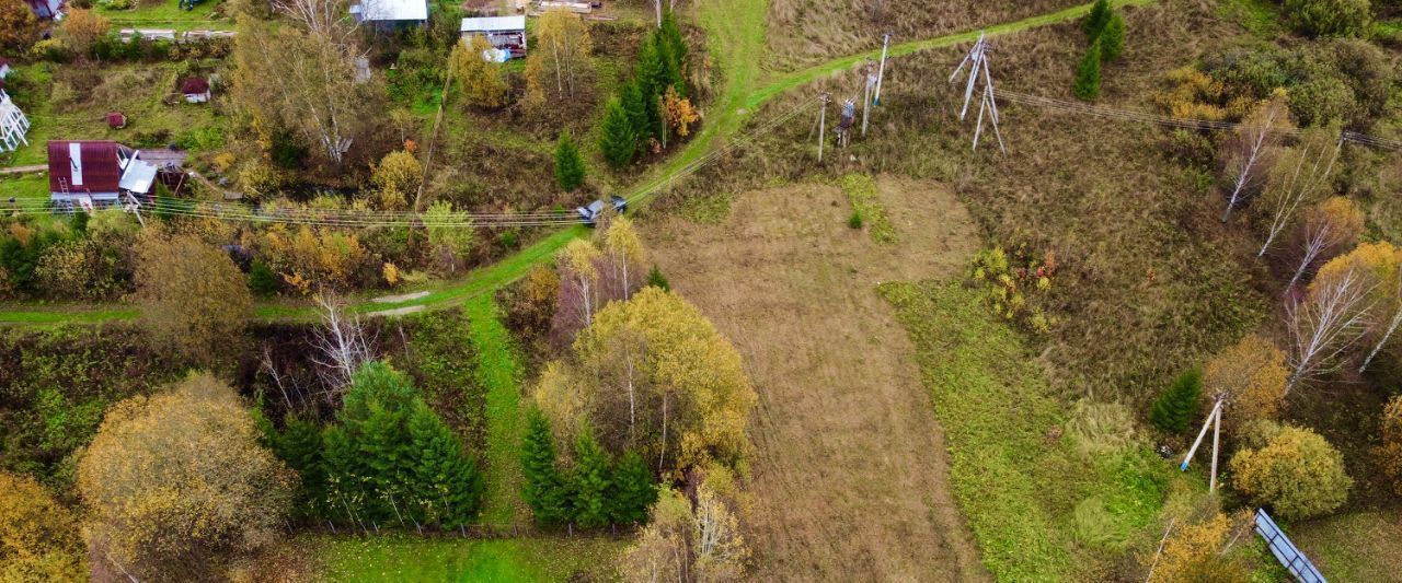
[[[463,454],[453,430],[423,402],[409,416],[409,434],[418,454],[409,491],[423,520],[444,528],[472,521],[482,509],[477,460]]]

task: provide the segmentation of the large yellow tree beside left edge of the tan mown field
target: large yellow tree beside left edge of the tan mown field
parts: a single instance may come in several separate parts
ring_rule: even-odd
[[[735,348],[694,306],[658,287],[600,310],[536,391],[551,427],[587,423],[604,447],[637,448],[659,471],[737,462],[756,399]]]

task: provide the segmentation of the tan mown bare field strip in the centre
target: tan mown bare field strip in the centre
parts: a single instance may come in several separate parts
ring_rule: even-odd
[[[649,226],[656,262],[735,342],[760,392],[754,580],[987,579],[913,346],[875,293],[955,273],[976,231],[939,185],[878,184],[896,245],[848,228],[845,196],[819,185],[742,195],[719,226]]]

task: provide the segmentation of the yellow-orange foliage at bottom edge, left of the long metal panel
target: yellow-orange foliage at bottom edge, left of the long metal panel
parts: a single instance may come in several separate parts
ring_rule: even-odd
[[[1232,534],[1231,520],[1216,514],[1210,520],[1178,528],[1164,542],[1154,565],[1151,583],[1246,583],[1251,572],[1234,555],[1223,551]]]

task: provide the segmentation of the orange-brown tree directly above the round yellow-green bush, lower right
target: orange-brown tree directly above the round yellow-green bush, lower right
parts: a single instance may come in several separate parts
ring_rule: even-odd
[[[1203,385],[1209,395],[1224,394],[1231,415],[1223,422],[1228,430],[1251,419],[1274,419],[1286,398],[1286,353],[1260,335],[1249,335],[1228,346],[1203,367]]]

